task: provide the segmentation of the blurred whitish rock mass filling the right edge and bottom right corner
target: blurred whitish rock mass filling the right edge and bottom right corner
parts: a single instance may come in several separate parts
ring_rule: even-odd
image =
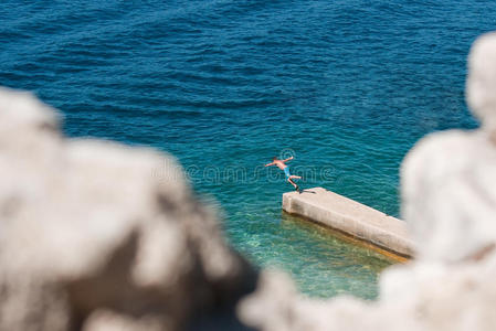
[[[415,260],[381,275],[377,302],[306,299],[284,275],[264,273],[239,306],[243,321],[267,331],[496,330],[495,33],[474,44],[468,63],[467,100],[482,128],[431,135],[402,164]]]

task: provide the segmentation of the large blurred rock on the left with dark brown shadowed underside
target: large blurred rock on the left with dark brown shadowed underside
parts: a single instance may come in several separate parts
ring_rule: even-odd
[[[0,330],[176,330],[253,279],[172,158],[30,94],[0,89]]]

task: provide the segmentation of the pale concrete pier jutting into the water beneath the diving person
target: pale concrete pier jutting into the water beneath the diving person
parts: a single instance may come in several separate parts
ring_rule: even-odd
[[[413,255],[403,221],[323,188],[284,193],[283,210],[400,256]]]

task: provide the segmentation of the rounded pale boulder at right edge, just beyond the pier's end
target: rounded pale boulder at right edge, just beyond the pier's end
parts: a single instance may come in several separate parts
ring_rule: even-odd
[[[422,139],[401,168],[402,216],[416,256],[456,261],[496,243],[496,146],[486,132]]]

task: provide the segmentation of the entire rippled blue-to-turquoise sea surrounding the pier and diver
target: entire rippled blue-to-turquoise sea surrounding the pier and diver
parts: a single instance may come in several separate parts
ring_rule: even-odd
[[[232,245],[305,292],[373,298],[389,263],[283,217],[292,188],[261,166],[293,154],[303,186],[398,215],[413,143],[477,126],[465,61],[496,1],[2,0],[0,22],[0,85],[61,109],[70,136],[173,153]]]

